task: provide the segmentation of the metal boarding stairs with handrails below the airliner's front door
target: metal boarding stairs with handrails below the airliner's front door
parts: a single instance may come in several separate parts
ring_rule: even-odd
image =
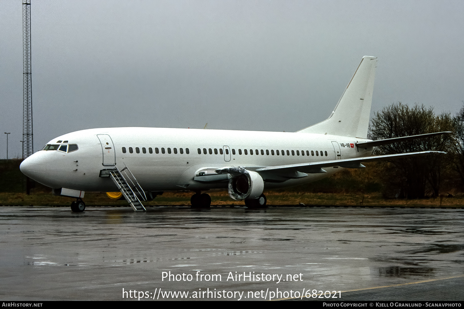
[[[127,166],[122,170],[115,166],[114,170],[110,172],[110,177],[134,211],[147,211],[138,197],[140,196],[142,200],[146,201],[147,195]]]

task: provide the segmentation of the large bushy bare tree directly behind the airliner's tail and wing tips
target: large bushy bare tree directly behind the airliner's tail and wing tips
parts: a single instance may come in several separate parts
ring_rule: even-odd
[[[440,131],[452,131],[450,114],[435,115],[433,108],[415,104],[409,107],[399,102],[384,107],[374,114],[369,126],[370,139],[390,139],[408,135],[418,135]],[[439,135],[427,139],[415,139],[375,149],[376,154],[393,154],[414,151],[449,151],[452,148],[449,135]],[[393,189],[397,196],[423,198],[427,190],[438,196],[443,171],[450,160],[443,156],[403,158],[384,164],[384,182],[387,189]]]

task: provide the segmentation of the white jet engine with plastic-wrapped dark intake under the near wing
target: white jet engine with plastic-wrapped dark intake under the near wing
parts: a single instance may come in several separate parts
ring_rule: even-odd
[[[263,193],[264,181],[257,172],[245,170],[229,179],[228,190],[234,200],[255,199]]]

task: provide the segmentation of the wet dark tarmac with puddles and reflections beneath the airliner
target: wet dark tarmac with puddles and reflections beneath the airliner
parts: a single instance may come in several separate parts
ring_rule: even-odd
[[[0,207],[0,300],[462,301],[463,223],[462,209]]]

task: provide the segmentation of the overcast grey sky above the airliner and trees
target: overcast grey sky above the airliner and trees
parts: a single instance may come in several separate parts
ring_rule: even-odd
[[[0,158],[21,156],[22,2],[0,1]],[[326,119],[362,56],[372,112],[455,114],[464,1],[32,0],[34,151],[109,126],[296,131]]]

